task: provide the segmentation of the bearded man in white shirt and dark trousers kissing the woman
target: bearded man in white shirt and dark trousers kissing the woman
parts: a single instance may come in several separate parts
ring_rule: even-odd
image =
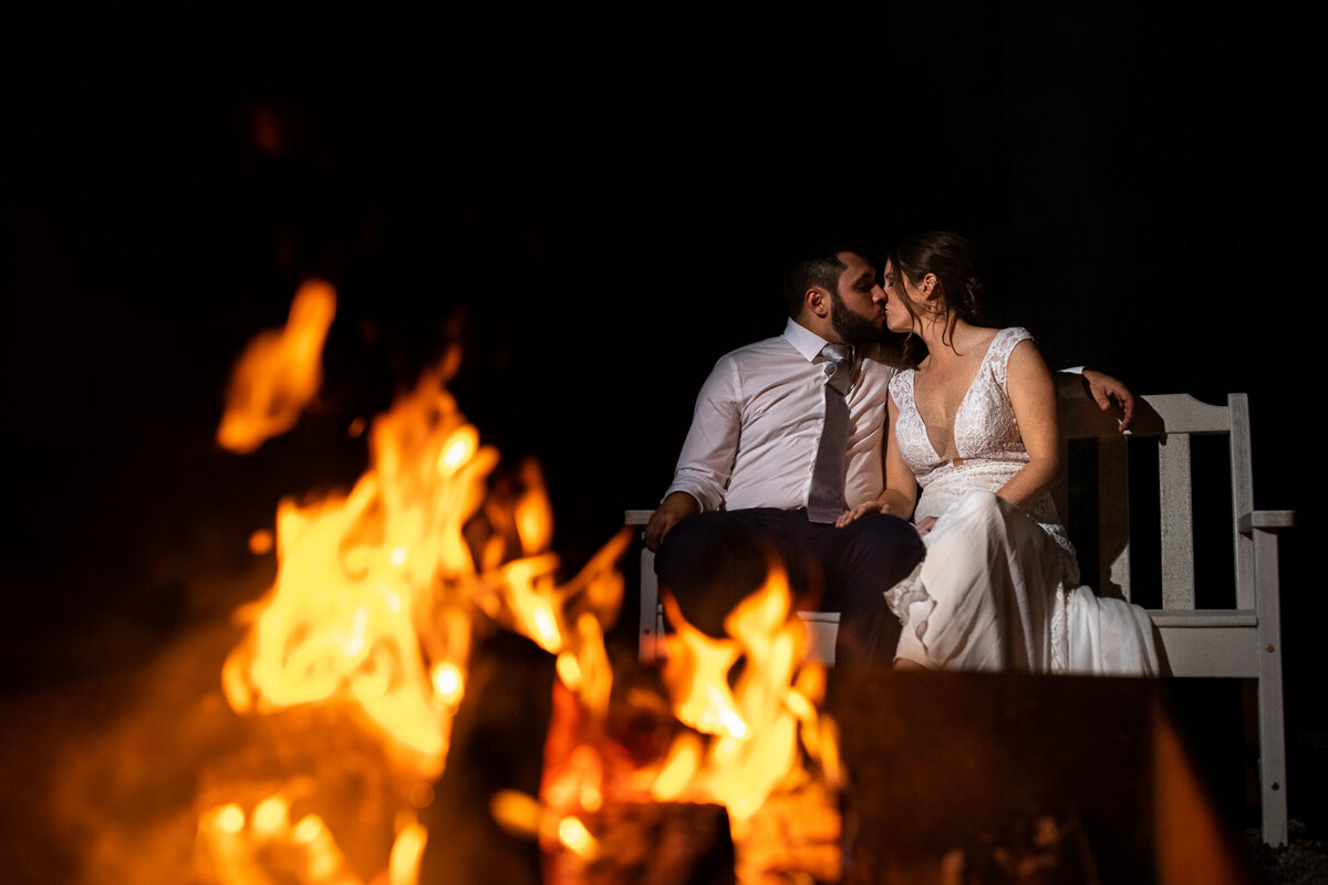
[[[843,399],[849,410],[842,508],[884,487],[886,399],[902,368],[886,338],[884,292],[876,269],[847,243],[814,245],[785,267],[789,318],[784,333],[738,348],[701,386],[673,482],[645,527],[660,588],[683,616],[710,636],[758,589],[772,564],[789,575],[795,609],[839,612],[838,666],[888,666],[899,621],[883,593],[923,555],[912,525],[871,513],[845,528],[809,511],[825,385],[834,374],[826,344],[849,345]],[[1122,430],[1133,395],[1085,372],[1102,409],[1118,405]]]

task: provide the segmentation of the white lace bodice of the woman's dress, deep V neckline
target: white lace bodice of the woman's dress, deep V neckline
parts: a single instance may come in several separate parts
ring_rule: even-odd
[[[900,372],[891,381],[890,395],[899,409],[899,419],[894,427],[899,452],[922,490],[914,511],[915,520],[940,516],[969,488],[997,491],[1028,463],[1005,373],[1015,346],[1032,337],[1027,329],[1013,326],[1001,329],[992,338],[977,375],[955,411],[954,450],[957,458],[950,460],[936,452],[927,434],[927,425],[918,411],[914,370]],[[1049,494],[1029,502],[1025,510],[1044,528],[1057,535],[1058,541],[1069,544]]]

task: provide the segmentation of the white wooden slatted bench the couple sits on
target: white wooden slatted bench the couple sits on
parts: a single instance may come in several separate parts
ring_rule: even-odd
[[[1161,597],[1138,600],[1149,605],[1157,628],[1158,653],[1163,674],[1178,678],[1252,679],[1258,686],[1259,793],[1263,841],[1272,847],[1287,843],[1286,738],[1282,705],[1282,628],[1279,604],[1278,532],[1295,523],[1292,511],[1254,508],[1252,459],[1250,446],[1250,405],[1246,394],[1234,393],[1227,405],[1199,402],[1189,394],[1147,395],[1137,399],[1130,433],[1117,431],[1114,418],[1101,413],[1082,397],[1062,398],[1061,426],[1068,474],[1057,488],[1057,506],[1070,535],[1084,551],[1085,541],[1066,515],[1072,513],[1070,492],[1096,492],[1097,575],[1084,581],[1100,594],[1131,598],[1135,581],[1131,568],[1129,452],[1141,443],[1155,442],[1159,535]],[[1231,516],[1234,549],[1234,600],[1222,606],[1197,606],[1195,511],[1193,442],[1198,437],[1224,435],[1230,459]],[[1092,441],[1096,439],[1096,446]],[[1073,443],[1070,441],[1086,441]],[[1085,459],[1074,452],[1092,452],[1096,476],[1081,476]],[[1151,463],[1151,459],[1149,459]],[[1092,472],[1092,471],[1089,471]],[[1199,482],[1210,482],[1207,476]],[[1073,483],[1073,484],[1072,484]],[[629,510],[628,525],[644,525],[648,510]],[[1135,548],[1142,547],[1135,527]],[[1155,606],[1153,606],[1155,604]],[[835,612],[799,612],[807,625],[809,654],[834,663]],[[660,637],[665,629],[655,555],[641,547],[639,653],[643,661],[661,655]]]

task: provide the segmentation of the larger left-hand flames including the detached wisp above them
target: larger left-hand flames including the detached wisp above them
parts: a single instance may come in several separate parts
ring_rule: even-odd
[[[303,287],[287,329],[259,336],[246,352],[218,431],[230,448],[248,451],[280,433],[313,395],[332,304],[329,287]],[[445,389],[457,364],[449,353],[372,422],[369,467],[349,492],[279,503],[275,582],[236,612],[247,633],[222,671],[236,713],[333,710],[381,740],[396,780],[408,784],[388,861],[392,885],[414,881],[428,833],[413,811],[432,800],[421,787],[446,764],[478,633],[530,637],[556,655],[559,678],[588,710],[607,709],[612,685],[603,624],[622,600],[615,564],[628,536],[558,584],[538,466],[523,464],[518,482],[490,492],[498,452]],[[251,545],[266,547],[258,533]],[[263,858],[280,854],[299,856],[295,881],[359,881],[325,823],[288,819],[287,789],[202,815],[201,844],[216,874],[254,881],[247,876]],[[572,823],[563,835],[590,851],[590,835]]]

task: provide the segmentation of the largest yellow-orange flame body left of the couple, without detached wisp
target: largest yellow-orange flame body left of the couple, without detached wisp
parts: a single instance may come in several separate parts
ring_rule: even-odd
[[[425,776],[442,770],[465,693],[475,569],[463,527],[497,452],[426,373],[371,430],[349,494],[278,508],[278,577],[238,613],[252,632],[226,662],[231,706],[349,702]]]

